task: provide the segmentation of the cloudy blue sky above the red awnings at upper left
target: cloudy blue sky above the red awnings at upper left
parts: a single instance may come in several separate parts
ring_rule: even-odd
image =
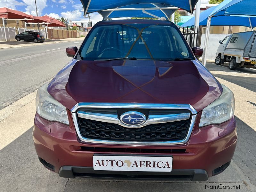
[[[36,0],[38,16],[65,17],[68,20],[88,20],[83,17],[80,0]],[[0,7],[8,7],[36,16],[35,0],[0,0]],[[102,20],[97,13],[90,14],[93,24]]]

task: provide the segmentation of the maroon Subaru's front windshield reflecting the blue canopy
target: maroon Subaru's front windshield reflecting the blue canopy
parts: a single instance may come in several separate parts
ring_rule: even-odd
[[[82,60],[192,60],[179,29],[170,25],[95,26],[80,49]]]

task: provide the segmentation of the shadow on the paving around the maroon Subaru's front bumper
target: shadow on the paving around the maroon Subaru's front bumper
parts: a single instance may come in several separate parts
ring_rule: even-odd
[[[250,165],[255,151],[256,132],[251,127],[236,118],[238,132],[238,147],[233,158],[234,162],[243,170],[246,162]],[[142,181],[107,181],[92,179],[66,179],[53,173],[39,162],[34,149],[31,127],[16,140],[0,150],[0,191],[248,191],[240,175],[232,164],[220,175],[204,182],[169,181],[169,182],[142,182]],[[10,130],[15,131],[15,130]],[[247,157],[246,157],[247,156]],[[247,158],[247,159],[246,159]],[[255,158],[255,157],[254,157]],[[249,166],[247,167],[249,168]],[[248,176],[252,176],[248,170]],[[247,173],[245,173],[246,175]],[[251,178],[252,182],[255,180]],[[207,186],[240,186],[240,189],[208,189]]]

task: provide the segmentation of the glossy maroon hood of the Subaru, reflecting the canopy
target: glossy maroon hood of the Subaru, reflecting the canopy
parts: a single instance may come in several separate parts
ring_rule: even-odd
[[[69,110],[80,102],[171,103],[199,112],[222,87],[197,60],[71,60],[47,90]]]

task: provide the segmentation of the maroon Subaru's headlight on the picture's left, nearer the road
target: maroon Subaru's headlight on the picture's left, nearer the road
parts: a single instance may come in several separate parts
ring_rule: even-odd
[[[36,93],[36,112],[49,121],[69,124],[66,108],[47,92],[47,84]]]

